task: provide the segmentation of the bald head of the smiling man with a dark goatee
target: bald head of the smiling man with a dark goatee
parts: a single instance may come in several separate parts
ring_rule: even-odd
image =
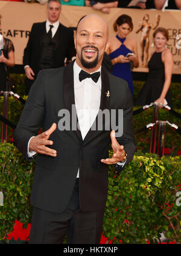
[[[100,68],[108,39],[109,29],[103,18],[90,14],[81,19],[75,37],[77,64],[88,69],[87,72],[94,72]]]

